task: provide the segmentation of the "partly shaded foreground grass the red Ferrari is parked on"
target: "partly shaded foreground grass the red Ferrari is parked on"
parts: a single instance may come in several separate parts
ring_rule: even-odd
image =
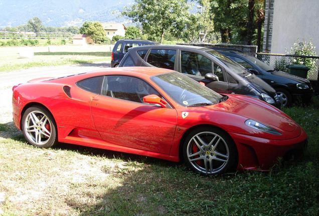
[[[2,215],[318,215],[319,100],[284,108],[305,155],[270,172],[198,175],[181,163],[71,144],[0,139]],[[0,128],[8,130],[6,125]],[[0,195],[1,202],[1,195]],[[0,213],[1,214],[1,213]]]

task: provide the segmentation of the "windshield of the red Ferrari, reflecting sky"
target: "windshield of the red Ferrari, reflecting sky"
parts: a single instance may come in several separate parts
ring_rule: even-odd
[[[152,76],[151,79],[183,106],[206,106],[226,99],[226,96],[179,72],[159,74]]]

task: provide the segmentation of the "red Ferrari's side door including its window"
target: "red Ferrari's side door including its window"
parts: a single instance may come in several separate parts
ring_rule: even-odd
[[[91,103],[92,117],[108,143],[169,154],[177,124],[175,108],[142,102],[160,95],[149,83],[133,76],[104,76],[102,93]]]

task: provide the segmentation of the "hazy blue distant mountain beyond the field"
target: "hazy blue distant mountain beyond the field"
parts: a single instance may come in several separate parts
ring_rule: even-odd
[[[45,26],[81,26],[84,21],[125,22],[120,12],[134,0],[0,0],[0,28],[27,24],[37,16]],[[127,21],[127,20],[126,20]]]

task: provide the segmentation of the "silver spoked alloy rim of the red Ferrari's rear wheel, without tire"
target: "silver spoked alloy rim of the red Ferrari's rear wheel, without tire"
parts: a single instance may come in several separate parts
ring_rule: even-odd
[[[38,110],[31,111],[24,122],[26,135],[38,146],[49,141],[52,126],[49,118]]]

